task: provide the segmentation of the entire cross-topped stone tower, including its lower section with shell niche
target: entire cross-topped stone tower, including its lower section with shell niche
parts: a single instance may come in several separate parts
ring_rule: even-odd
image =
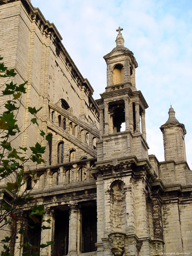
[[[148,196],[149,184],[155,175],[148,161],[146,142],[145,109],[148,105],[141,91],[136,89],[138,64],[133,53],[124,46],[121,30],[117,29],[116,47],[104,56],[107,86],[100,94],[101,99],[96,101],[100,135],[97,162],[91,173],[97,184],[98,256],[111,255],[111,252],[114,256],[151,255],[153,247]],[[160,215],[159,210],[159,222]],[[163,239],[161,223],[157,235],[159,244]]]

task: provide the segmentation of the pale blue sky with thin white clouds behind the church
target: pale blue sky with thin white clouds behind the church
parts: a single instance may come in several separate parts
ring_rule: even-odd
[[[146,109],[149,154],[164,161],[159,127],[168,119],[170,103],[185,125],[187,162],[192,169],[192,1],[191,0],[31,0],[53,22],[63,45],[84,78],[94,99],[106,87],[103,56],[115,46],[118,26],[125,47],[138,62],[136,88]]]

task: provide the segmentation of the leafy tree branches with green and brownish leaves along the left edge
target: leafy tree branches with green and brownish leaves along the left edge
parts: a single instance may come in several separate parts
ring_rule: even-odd
[[[2,59],[0,57],[0,61]],[[13,244],[15,239],[22,235],[25,239],[21,245],[19,244],[18,248],[23,248],[23,256],[35,256],[39,255],[39,248],[52,244],[51,241],[48,241],[46,244],[32,245],[27,238],[27,230],[31,229],[33,231],[39,225],[40,229],[49,229],[49,227],[41,225],[41,222],[50,223],[50,219],[43,219],[45,215],[44,206],[34,204],[33,207],[29,208],[29,211],[25,213],[26,217],[31,220],[28,225],[16,229],[16,224],[19,220],[19,208],[28,203],[33,203],[33,197],[30,196],[32,188],[26,187],[27,181],[24,178],[26,175],[25,166],[29,165],[29,162],[36,167],[38,164],[44,163],[42,155],[45,152],[45,147],[41,146],[41,143],[44,139],[49,140],[50,136],[45,136],[45,132],[40,131],[42,136],[40,143],[37,142],[29,148],[14,148],[12,146],[12,142],[25,132],[20,131],[17,116],[22,95],[26,94],[27,81],[19,85],[14,84],[12,78],[15,75],[14,69],[8,69],[3,62],[0,63],[0,78],[6,80],[0,87],[2,90],[1,96],[3,96],[1,99],[5,99],[4,104],[1,105],[3,113],[0,114],[0,233],[3,234],[4,232],[5,234],[4,239],[0,240],[0,245],[2,245],[0,255],[14,255]],[[41,108],[28,107],[32,118],[27,128],[30,125],[38,125],[37,113],[40,110]],[[29,171],[29,173],[33,178],[34,173],[32,171]]]

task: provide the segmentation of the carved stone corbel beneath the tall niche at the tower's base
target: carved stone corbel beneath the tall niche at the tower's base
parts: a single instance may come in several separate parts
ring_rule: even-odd
[[[125,248],[125,234],[124,233],[111,233],[109,234],[109,242],[111,245],[111,251],[114,256],[123,256]]]

